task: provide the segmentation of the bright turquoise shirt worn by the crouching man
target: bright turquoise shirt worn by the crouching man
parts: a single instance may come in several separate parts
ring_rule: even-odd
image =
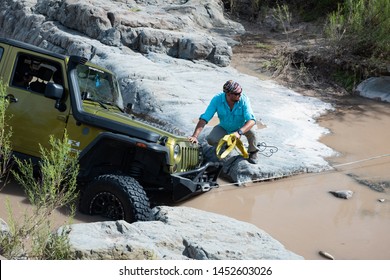
[[[241,94],[240,100],[234,104],[233,110],[230,110],[224,92],[215,95],[206,111],[200,115],[200,119],[209,122],[215,113],[220,120],[219,126],[225,129],[228,134],[240,129],[249,120],[256,122],[249,98],[244,93]]]

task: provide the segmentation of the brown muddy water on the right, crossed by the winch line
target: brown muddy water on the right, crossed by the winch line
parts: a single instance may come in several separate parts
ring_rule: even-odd
[[[334,170],[245,187],[221,181],[182,205],[253,223],[306,259],[323,259],[320,250],[336,259],[390,259],[390,188],[355,180],[390,184],[390,104],[355,98],[351,108],[320,120],[332,131],[322,142],[341,153],[328,159]],[[354,194],[340,199],[335,190]]]

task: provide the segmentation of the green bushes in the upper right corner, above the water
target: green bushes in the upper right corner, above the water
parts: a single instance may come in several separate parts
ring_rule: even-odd
[[[390,63],[390,2],[345,0],[327,17],[329,50],[349,62],[333,79],[349,92]],[[379,70],[380,71],[380,70]]]

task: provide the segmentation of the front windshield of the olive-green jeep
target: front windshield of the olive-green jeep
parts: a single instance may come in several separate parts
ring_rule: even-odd
[[[114,75],[89,65],[77,65],[77,80],[81,99],[99,103],[102,107],[113,105],[123,109],[122,95]]]

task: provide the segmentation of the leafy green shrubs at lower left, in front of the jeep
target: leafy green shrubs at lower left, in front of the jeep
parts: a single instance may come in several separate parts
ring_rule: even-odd
[[[5,96],[6,87],[0,81],[0,96]],[[6,129],[5,110],[8,101],[0,98],[0,165],[1,176],[7,177],[12,155],[11,133]],[[15,169],[11,170],[21,184],[32,208],[24,212],[21,221],[15,217],[9,201],[9,234],[0,235],[0,254],[8,259],[71,259],[68,238],[65,233],[52,233],[51,214],[58,208],[68,207],[70,218],[74,217],[77,157],[72,155],[68,137],[63,140],[50,137],[51,149],[41,149],[40,175],[34,175],[31,161],[14,158]]]

